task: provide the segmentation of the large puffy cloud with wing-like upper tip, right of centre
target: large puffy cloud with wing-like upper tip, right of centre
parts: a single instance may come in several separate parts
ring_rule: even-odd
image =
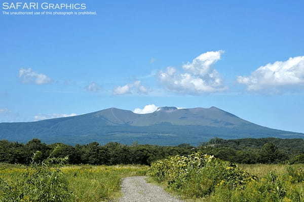
[[[213,93],[226,90],[222,78],[212,67],[220,60],[223,51],[210,51],[182,66],[183,72],[175,67],[160,71],[158,78],[168,90],[182,94]]]

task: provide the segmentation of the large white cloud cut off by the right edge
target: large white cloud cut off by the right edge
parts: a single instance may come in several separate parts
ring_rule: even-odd
[[[304,86],[304,56],[269,63],[249,76],[238,76],[237,81],[248,91]]]

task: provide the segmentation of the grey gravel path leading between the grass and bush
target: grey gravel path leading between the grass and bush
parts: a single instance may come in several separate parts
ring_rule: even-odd
[[[159,186],[147,183],[146,177],[136,176],[123,179],[120,202],[182,202]]]

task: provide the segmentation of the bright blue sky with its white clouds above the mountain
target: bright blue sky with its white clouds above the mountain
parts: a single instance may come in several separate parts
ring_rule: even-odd
[[[97,15],[1,10],[0,122],[216,106],[304,133],[303,1],[81,3]]]

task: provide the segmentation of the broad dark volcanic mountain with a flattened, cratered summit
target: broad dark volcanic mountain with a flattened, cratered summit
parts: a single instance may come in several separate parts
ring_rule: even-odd
[[[84,144],[97,141],[132,144],[198,145],[210,138],[304,138],[304,134],[262,127],[216,107],[160,107],[136,114],[109,108],[78,116],[27,123],[0,123],[0,139],[27,142]]]

